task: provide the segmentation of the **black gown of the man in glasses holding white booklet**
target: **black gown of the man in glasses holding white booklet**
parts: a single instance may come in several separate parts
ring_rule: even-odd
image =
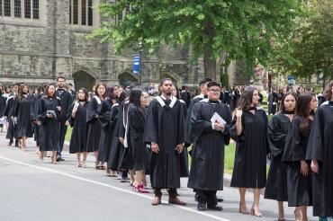
[[[223,132],[211,128],[214,113],[226,120]],[[191,117],[194,138],[191,171],[187,187],[194,190],[223,190],[224,145],[229,144],[231,113],[227,105],[203,99],[194,105]]]

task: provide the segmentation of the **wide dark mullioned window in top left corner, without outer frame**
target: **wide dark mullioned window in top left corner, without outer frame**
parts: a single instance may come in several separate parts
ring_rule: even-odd
[[[40,19],[40,0],[0,0],[0,16]]]

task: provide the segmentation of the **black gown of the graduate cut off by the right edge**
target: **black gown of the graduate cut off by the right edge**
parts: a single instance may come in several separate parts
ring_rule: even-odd
[[[312,175],[313,216],[333,217],[333,103],[324,102],[316,112],[306,159],[317,159],[320,166]]]

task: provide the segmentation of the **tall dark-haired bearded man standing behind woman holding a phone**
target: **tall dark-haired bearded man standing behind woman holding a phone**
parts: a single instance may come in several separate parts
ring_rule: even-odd
[[[72,99],[72,94],[68,93],[65,90],[65,84],[66,84],[66,79],[64,76],[58,76],[57,78],[57,92],[56,96],[60,98],[60,104],[61,104],[61,116],[60,116],[60,121],[59,121],[59,131],[60,131],[60,136],[59,136],[59,146],[58,146],[58,151],[57,151],[57,161],[63,161],[64,159],[61,158],[61,152],[64,147],[64,142],[65,142],[65,136],[67,132],[67,126],[66,126],[66,120],[67,120],[67,114],[69,112],[70,106],[73,102]]]

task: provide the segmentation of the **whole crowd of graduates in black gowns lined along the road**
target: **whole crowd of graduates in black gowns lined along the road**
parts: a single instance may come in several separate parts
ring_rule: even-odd
[[[310,91],[289,88],[276,101],[272,92],[269,100],[279,107],[269,121],[257,88],[229,93],[209,78],[193,97],[167,78],[154,96],[135,83],[126,88],[98,83],[91,93],[65,86],[65,77],[58,76],[57,86],[44,84],[33,94],[28,84],[14,84],[11,93],[0,94],[9,146],[25,151],[27,137],[33,136],[39,161],[49,152],[51,164],[58,164],[66,160],[61,153],[72,127],[69,153],[76,154],[77,167],[85,168],[94,153],[95,169],[121,176],[142,194],[149,192],[148,177],[153,206],[161,204],[162,189],[170,204],[184,206],[176,189],[180,178],[188,177],[187,187],[203,211],[222,210],[216,193],[223,190],[224,146],[232,139],[236,154],[230,186],[239,190],[239,213],[262,217],[260,191],[265,188],[265,199],[277,201],[278,220],[285,220],[284,202],[295,207],[296,220],[307,220],[311,206],[313,216],[333,217],[333,81],[321,93],[320,105]],[[253,189],[250,209],[247,189]]]

